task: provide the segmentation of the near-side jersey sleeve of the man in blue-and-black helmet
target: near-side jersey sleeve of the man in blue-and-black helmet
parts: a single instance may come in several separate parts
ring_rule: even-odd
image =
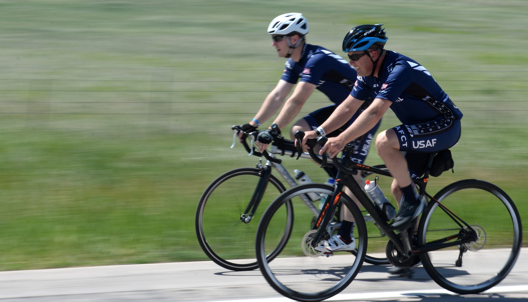
[[[405,90],[412,83],[412,73],[403,64],[396,64],[388,77],[383,77],[385,80],[381,84],[381,90],[376,98],[386,99],[395,102]]]

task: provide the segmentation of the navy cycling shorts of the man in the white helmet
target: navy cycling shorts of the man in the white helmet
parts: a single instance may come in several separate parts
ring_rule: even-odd
[[[323,125],[323,123],[332,115],[337,106],[338,105],[334,104],[315,110],[314,112],[303,117],[303,119],[306,120],[306,122],[308,122],[308,125],[310,125],[310,127],[315,130],[320,125]],[[336,137],[340,135],[344,130],[346,130],[346,128],[348,128],[348,126],[352,125],[352,122],[355,120],[357,115],[358,114],[356,113],[350,120],[345,123],[345,125],[341,126],[335,131],[332,131],[326,136]],[[354,146],[354,153],[350,157],[353,162],[358,164],[364,163],[367,154],[369,154],[370,145],[374,140],[374,134],[376,133],[376,130],[378,130],[378,127],[380,127],[380,123],[381,120],[378,122],[378,124],[376,124],[376,126],[374,126],[374,128],[370,129],[369,132],[350,142]]]

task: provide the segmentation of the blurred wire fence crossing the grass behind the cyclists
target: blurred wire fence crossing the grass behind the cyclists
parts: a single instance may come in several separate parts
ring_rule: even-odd
[[[167,80],[161,79],[163,75],[157,75],[152,77],[152,72],[163,71],[164,73],[175,74],[178,71],[207,71],[207,72],[226,72],[226,71],[237,71],[237,72],[248,72],[254,73],[258,71],[270,71],[277,72],[276,69],[138,69],[138,68],[29,68],[29,67],[0,67],[0,69],[14,69],[21,72],[22,74],[29,70],[51,70],[51,71],[139,71],[139,73],[130,73],[134,77],[146,77],[149,71],[150,79],[130,79],[130,78],[114,78],[114,79],[94,79],[90,77],[81,78],[66,78],[66,77],[5,77],[0,78],[0,115],[252,115],[258,110],[258,104],[262,103],[263,99],[270,92],[272,85],[274,85],[278,79],[274,80],[229,80],[229,79],[213,79],[208,80],[206,78],[200,79],[185,79],[185,80]],[[513,93],[518,95],[515,98],[501,98],[495,99],[464,99],[457,100],[456,103],[496,103],[495,108],[477,108],[477,109],[466,109],[468,111],[528,111],[523,108],[505,108],[504,105],[507,103],[525,103],[528,99],[522,96],[522,93],[528,92],[528,79],[523,79],[523,76],[528,78],[528,70],[472,70],[472,71],[460,71],[460,70],[431,70],[430,72],[436,73],[489,73],[490,76],[494,76],[497,73],[511,74],[512,79],[467,79],[468,75],[464,75],[463,79],[444,79],[437,80],[437,82],[446,83],[445,91],[450,94],[456,93],[474,93],[482,92],[483,89],[488,89],[489,93]],[[526,74],[523,74],[526,73]],[[91,74],[93,75],[93,74]],[[508,77],[508,75],[506,77]],[[108,75],[105,75],[108,77]],[[90,84],[91,83],[91,84]],[[499,84],[494,84],[499,83]],[[100,84],[97,86],[97,84]],[[191,84],[191,86],[189,86]],[[192,87],[192,84],[198,87]],[[208,85],[210,84],[210,85]],[[229,88],[223,89],[222,84],[228,84]],[[233,89],[232,86],[241,85],[241,88]],[[259,89],[262,84],[266,84],[268,89]],[[457,88],[451,88],[450,84],[455,84]],[[225,85],[225,86],[228,86]],[[507,86],[514,86],[514,88],[505,88]],[[81,87],[79,87],[81,86]],[[103,86],[102,88],[100,86]],[[123,87],[125,86],[125,87]],[[175,88],[177,87],[177,88]],[[203,88],[202,88],[203,87]],[[464,87],[460,89],[459,87]],[[31,93],[40,93],[40,96],[25,97],[25,95],[31,95]],[[70,95],[78,95],[79,93],[88,93],[88,95],[96,95],[95,100],[92,100],[89,96],[82,97],[71,97]],[[167,93],[170,95],[163,95]],[[190,97],[193,93],[205,93],[209,94],[207,98]],[[251,97],[250,100],[225,100],[229,93],[235,95],[235,99],[241,99],[243,93],[258,93],[260,96],[257,98]],[[320,93],[320,92],[316,92]],[[43,95],[42,95],[43,94]],[[138,95],[148,95],[148,97],[138,97]],[[102,95],[103,97],[100,97]],[[108,96],[105,96],[108,95]],[[116,95],[121,95],[119,101],[110,100],[116,98]],[[158,95],[158,96],[156,96]],[[10,96],[10,97],[7,97]],[[109,100],[101,101],[101,99],[109,98]],[[175,100],[176,99],[176,100]],[[308,100],[307,103],[311,103],[314,106],[321,104],[321,107],[329,104],[329,101],[321,101],[319,98],[312,98],[314,100]],[[230,111],[229,106],[239,106],[243,104],[255,104],[251,105],[248,112],[246,110],[239,110],[244,112]],[[46,108],[38,108],[37,105],[48,105]],[[59,108],[61,105],[67,106]],[[175,105],[180,106],[166,110],[166,108],[157,110],[163,112],[155,112],[156,110],[144,110],[145,112],[137,112],[139,109],[135,108],[133,112],[100,112],[100,110],[90,111],[89,105],[109,105],[109,106],[140,106],[140,105]],[[205,112],[204,107],[220,105],[223,106],[222,110],[213,108],[211,112]],[[18,107],[17,107],[18,106]],[[23,106],[23,107],[21,107]],[[35,107],[36,106],[36,107]],[[74,106],[81,106],[79,110],[76,110]],[[193,108],[199,106],[201,108]],[[214,107],[214,106],[213,106]],[[62,112],[64,109],[67,112]],[[253,110],[254,108],[254,110]],[[62,110],[56,110],[62,109]],[[82,109],[82,110],[81,110]],[[115,109],[115,108],[114,108]],[[193,109],[200,109],[194,110]],[[99,111],[99,112],[97,112]],[[111,111],[111,110],[110,110]],[[140,110],[139,110],[140,111]],[[170,111],[170,112],[167,112]],[[185,112],[182,112],[185,111]],[[189,112],[191,111],[191,112]],[[308,112],[299,112],[300,114],[308,114]]]

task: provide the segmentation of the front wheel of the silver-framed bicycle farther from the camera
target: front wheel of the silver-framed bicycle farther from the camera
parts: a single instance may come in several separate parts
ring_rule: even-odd
[[[254,239],[258,222],[268,204],[286,190],[275,176],[270,175],[265,195],[253,219],[249,223],[242,222],[240,216],[251,199],[252,188],[257,186],[261,177],[259,173],[259,169],[250,167],[225,172],[205,189],[197,205],[195,229],[198,242],[205,254],[223,268],[233,271],[258,268],[254,259]],[[291,203],[286,211],[287,221],[293,219]],[[267,255],[269,261],[284,248],[289,236],[287,229],[285,236]]]

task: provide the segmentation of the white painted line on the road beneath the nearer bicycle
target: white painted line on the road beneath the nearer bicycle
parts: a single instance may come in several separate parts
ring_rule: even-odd
[[[501,292],[528,291],[528,285],[516,286],[496,286],[484,291],[484,294],[499,294]],[[426,290],[406,290],[406,291],[384,291],[384,292],[365,292],[357,294],[339,294],[325,301],[349,301],[381,298],[409,298],[412,296],[423,295],[458,295],[447,289],[426,289]],[[210,302],[290,302],[294,301],[286,297],[280,298],[263,298],[263,299],[244,299],[244,300],[222,300]]]

